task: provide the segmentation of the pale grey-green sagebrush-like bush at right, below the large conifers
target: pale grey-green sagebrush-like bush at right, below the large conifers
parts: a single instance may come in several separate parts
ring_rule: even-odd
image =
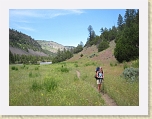
[[[135,81],[139,79],[138,68],[126,68],[122,74],[127,81]]]

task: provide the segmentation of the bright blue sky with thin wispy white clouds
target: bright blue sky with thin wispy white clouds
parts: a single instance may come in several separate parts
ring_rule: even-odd
[[[10,9],[9,28],[21,31],[35,40],[54,41],[77,46],[87,41],[91,25],[96,35],[100,29],[117,26],[118,15],[125,9]]]

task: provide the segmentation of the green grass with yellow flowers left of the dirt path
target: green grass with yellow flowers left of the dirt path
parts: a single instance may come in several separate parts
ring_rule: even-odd
[[[62,65],[40,66],[38,70],[35,70],[35,65],[29,65],[28,70],[22,69],[20,73],[13,72],[10,67],[9,105],[105,105],[101,95],[87,80],[78,79],[77,67],[73,63]]]

